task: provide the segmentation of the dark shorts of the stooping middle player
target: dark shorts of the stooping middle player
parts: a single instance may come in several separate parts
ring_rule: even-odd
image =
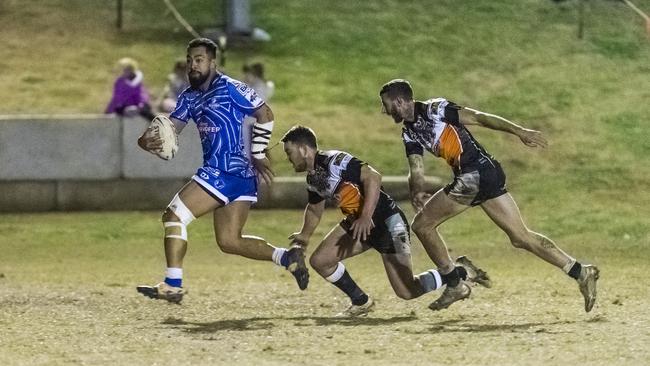
[[[350,228],[354,220],[354,216],[348,216],[339,224],[350,236],[352,236]],[[375,227],[370,230],[366,240],[362,241],[363,244],[375,248],[382,254],[411,253],[410,228],[401,210],[385,220],[374,220],[374,223]]]

